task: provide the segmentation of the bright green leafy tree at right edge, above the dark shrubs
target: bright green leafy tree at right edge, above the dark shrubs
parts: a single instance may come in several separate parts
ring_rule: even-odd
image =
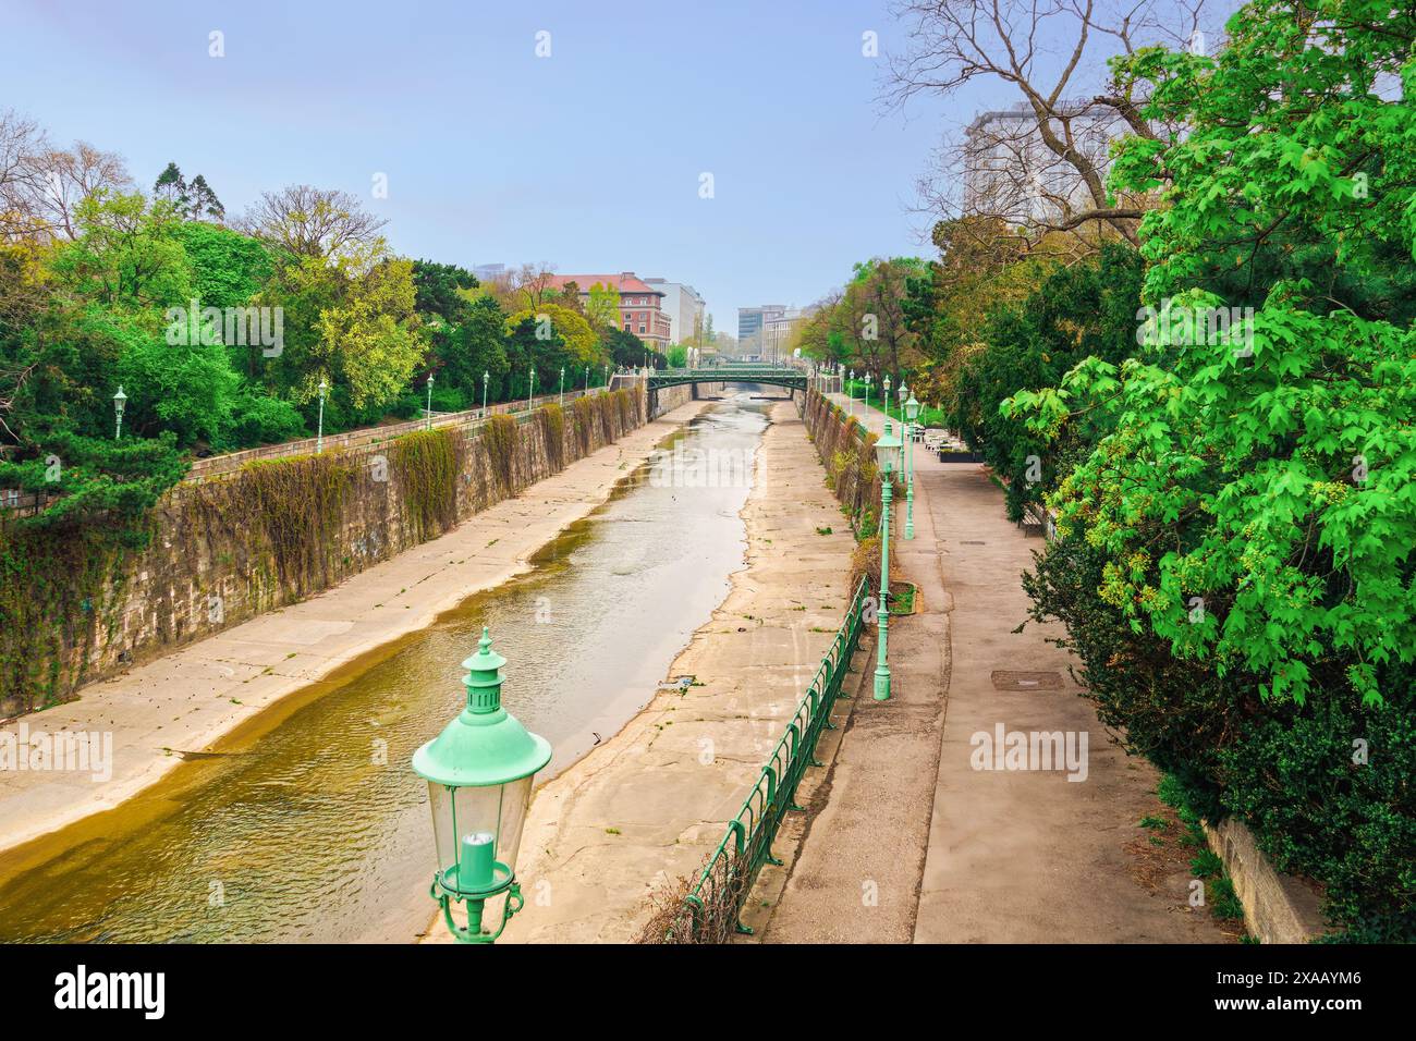
[[[1215,59],[1157,50],[1127,62],[1153,84],[1150,109],[1191,127],[1133,139],[1117,160],[1137,188],[1184,171],[1143,224],[1146,305],[1228,310],[1195,283],[1233,258],[1262,276],[1277,232],[1294,251],[1323,244],[1351,285],[1403,285],[1416,21],[1385,11],[1267,0],[1231,20]],[[1383,72],[1406,99],[1382,89]],[[1129,619],[1177,656],[1250,674],[1266,700],[1349,684],[1379,702],[1416,661],[1412,300],[1379,293],[1364,316],[1355,305],[1371,300],[1331,299],[1338,280],[1255,285],[1262,303],[1233,334],[1148,323],[1136,360],[1079,365],[1014,405],[1051,436],[1082,416],[1112,429],[1059,486],[1061,523],[1107,554],[1104,595]]]

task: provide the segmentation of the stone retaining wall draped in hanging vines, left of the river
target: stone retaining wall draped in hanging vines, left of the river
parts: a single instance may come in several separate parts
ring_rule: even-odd
[[[678,397],[661,394],[661,411]],[[146,548],[0,633],[0,718],[338,585],[612,443],[646,411],[640,387],[178,484]]]

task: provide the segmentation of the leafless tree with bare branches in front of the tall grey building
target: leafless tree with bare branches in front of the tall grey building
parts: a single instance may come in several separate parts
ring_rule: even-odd
[[[1102,68],[1099,51],[1136,54],[1164,40],[1199,40],[1204,0],[1137,0],[1116,10],[1097,0],[902,0],[908,45],[892,55],[884,101],[952,98],[976,81],[1017,92],[1004,118],[978,120],[970,139],[946,143],[940,173],[920,183],[943,217],[993,217],[1039,232],[1102,222],[1131,244],[1144,194],[1113,197],[1106,142],[1121,133],[1160,140],[1171,127],[1146,110],[1144,81]],[[1055,59],[1059,55],[1059,59]],[[984,169],[963,198],[953,186]],[[943,183],[943,187],[940,187]],[[1100,242],[1096,242],[1100,246]]]

